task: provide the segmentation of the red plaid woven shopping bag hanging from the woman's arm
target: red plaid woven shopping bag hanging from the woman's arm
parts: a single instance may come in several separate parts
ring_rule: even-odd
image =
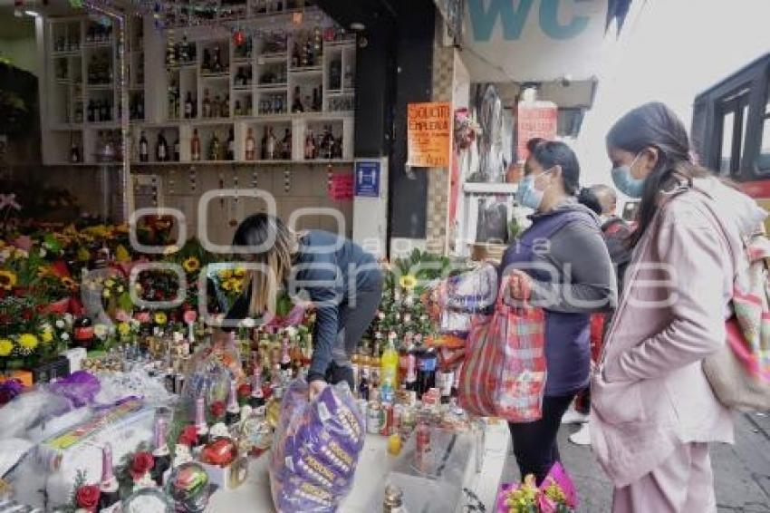
[[[531,422],[543,414],[544,312],[505,305],[503,280],[491,318],[476,318],[460,372],[460,405],[481,416]]]

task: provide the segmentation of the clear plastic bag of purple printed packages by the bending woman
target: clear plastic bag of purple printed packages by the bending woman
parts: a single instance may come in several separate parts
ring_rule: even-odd
[[[279,512],[335,511],[351,489],[365,437],[348,384],[328,386],[308,402],[307,383],[289,385],[275,430],[270,486]]]

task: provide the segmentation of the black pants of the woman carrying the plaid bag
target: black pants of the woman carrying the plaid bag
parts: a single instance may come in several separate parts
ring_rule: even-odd
[[[548,475],[553,463],[560,460],[556,435],[562,424],[564,411],[567,411],[574,396],[574,393],[559,397],[546,396],[543,400],[543,417],[539,421],[508,423],[522,480],[527,474],[534,474],[539,485]]]

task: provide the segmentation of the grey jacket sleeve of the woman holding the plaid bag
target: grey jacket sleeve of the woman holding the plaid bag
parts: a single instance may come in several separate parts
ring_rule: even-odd
[[[615,270],[598,227],[573,221],[551,237],[541,258],[558,279],[533,281],[532,303],[569,314],[608,312],[618,303]]]

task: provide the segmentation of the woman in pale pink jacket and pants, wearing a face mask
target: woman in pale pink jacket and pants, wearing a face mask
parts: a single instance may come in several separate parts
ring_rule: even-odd
[[[707,444],[732,443],[733,423],[701,363],[725,344],[735,255],[766,213],[693,163],[661,103],[617,121],[607,150],[615,185],[641,202],[592,376],[593,450],[615,486],[613,513],[716,513]]]

